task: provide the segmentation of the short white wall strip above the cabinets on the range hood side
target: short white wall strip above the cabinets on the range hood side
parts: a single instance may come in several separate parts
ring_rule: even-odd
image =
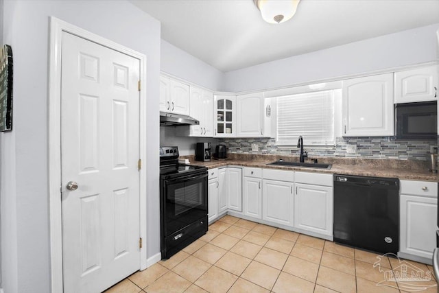
[[[221,90],[224,75],[218,69],[171,45],[166,40],[161,40],[161,71],[212,91]]]

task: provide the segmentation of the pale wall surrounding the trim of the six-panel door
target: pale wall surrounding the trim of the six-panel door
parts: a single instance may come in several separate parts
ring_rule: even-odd
[[[50,292],[47,178],[49,16],[147,56],[148,257],[160,251],[158,79],[160,23],[128,1],[4,1],[3,41],[14,54],[14,121],[0,133],[2,286]],[[129,32],[129,33],[128,33]]]

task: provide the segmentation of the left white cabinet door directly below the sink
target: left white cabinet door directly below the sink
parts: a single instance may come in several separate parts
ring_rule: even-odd
[[[293,226],[293,183],[262,180],[262,219]]]

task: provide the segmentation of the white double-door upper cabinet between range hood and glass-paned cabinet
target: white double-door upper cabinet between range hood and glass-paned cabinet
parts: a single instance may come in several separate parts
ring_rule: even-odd
[[[200,121],[199,125],[189,127],[190,137],[213,137],[213,93],[195,86],[190,87],[191,117]]]

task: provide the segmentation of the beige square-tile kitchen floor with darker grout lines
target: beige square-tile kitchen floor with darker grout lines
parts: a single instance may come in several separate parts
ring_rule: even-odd
[[[431,281],[396,283],[385,274],[404,263],[384,256],[374,268],[377,261],[364,250],[226,215],[180,253],[106,292],[437,292],[431,266],[407,261],[409,276],[431,274]]]

